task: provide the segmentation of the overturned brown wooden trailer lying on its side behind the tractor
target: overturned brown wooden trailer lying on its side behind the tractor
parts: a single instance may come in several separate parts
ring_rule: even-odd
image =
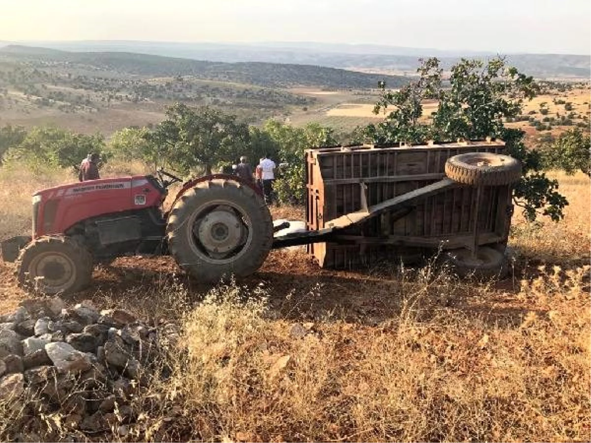
[[[502,272],[520,163],[500,140],[306,152],[306,226],[324,268],[413,261],[443,249],[459,271]]]

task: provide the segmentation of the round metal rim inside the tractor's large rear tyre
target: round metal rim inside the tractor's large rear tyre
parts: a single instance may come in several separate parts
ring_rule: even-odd
[[[252,220],[238,204],[210,201],[193,211],[187,220],[193,252],[209,263],[225,264],[239,259],[252,242]]]

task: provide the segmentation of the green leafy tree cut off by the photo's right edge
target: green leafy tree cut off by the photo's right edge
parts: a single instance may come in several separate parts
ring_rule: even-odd
[[[591,177],[591,135],[584,135],[579,128],[561,133],[556,141],[547,143],[542,152],[547,167],[567,174],[580,170]]]

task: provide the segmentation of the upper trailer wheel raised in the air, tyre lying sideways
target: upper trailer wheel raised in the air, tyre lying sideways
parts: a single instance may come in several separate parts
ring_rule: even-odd
[[[469,152],[454,155],[445,164],[447,177],[474,186],[502,186],[521,178],[521,164],[508,155]]]

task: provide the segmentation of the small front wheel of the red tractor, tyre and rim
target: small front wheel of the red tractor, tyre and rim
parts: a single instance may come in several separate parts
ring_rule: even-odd
[[[72,294],[90,284],[92,255],[70,237],[44,236],[21,250],[19,284],[40,294]]]

